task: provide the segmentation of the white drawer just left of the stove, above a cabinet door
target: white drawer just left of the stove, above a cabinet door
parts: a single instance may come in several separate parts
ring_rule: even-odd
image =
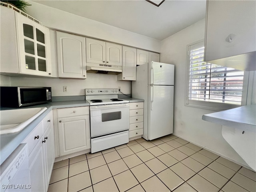
[[[89,114],[89,107],[70,107],[57,109],[58,118],[74,117]]]

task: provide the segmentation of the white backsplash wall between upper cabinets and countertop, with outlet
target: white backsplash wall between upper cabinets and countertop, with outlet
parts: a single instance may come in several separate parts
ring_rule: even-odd
[[[111,89],[118,87],[121,87],[121,91],[124,94],[131,94],[132,83],[130,81],[117,81],[116,75],[87,73],[86,76],[87,78],[85,80],[80,80],[60,78],[8,77],[1,75],[1,86],[49,86],[52,87],[52,96],[83,96],[85,95],[84,89]],[[63,92],[63,86],[68,86],[68,92]]]

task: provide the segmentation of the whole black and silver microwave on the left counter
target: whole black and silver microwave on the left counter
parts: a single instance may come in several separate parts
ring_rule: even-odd
[[[0,87],[2,107],[23,107],[52,101],[51,87]]]

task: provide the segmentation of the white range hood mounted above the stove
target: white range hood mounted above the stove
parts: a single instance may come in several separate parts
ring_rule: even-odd
[[[108,64],[97,64],[97,63],[86,63],[86,72],[117,75],[117,74],[122,73],[122,66],[115,66],[115,65],[108,65]]]

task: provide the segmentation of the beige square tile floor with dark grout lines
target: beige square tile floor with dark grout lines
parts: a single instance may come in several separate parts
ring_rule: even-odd
[[[174,135],[54,163],[48,192],[256,192],[256,173]]]

